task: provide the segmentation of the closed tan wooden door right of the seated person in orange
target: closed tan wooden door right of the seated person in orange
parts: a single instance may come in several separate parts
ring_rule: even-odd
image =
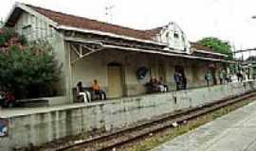
[[[110,98],[123,96],[120,65],[108,66],[108,95]]]

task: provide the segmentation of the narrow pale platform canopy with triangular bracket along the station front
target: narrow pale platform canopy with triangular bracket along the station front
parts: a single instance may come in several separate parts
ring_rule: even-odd
[[[183,59],[200,59],[200,60],[209,60],[209,61],[217,61],[217,62],[224,62],[224,63],[236,63],[234,60],[226,60],[226,59],[214,59],[209,57],[202,56],[195,56],[188,53],[177,53],[171,52],[166,50],[155,50],[155,49],[141,49],[141,48],[134,48],[134,47],[127,47],[127,46],[120,46],[114,44],[107,44],[104,42],[95,42],[95,41],[84,41],[81,39],[74,39],[74,38],[65,38],[65,42],[68,42],[70,45],[70,49],[77,54],[77,58],[71,60],[71,63],[76,62],[79,59],[85,58],[93,53],[100,52],[100,51],[109,51],[109,50],[119,50],[119,51],[130,51],[130,52],[139,52],[139,53],[149,53],[155,55],[162,55],[168,57],[177,57]],[[196,53],[203,53],[206,55],[214,55],[214,53],[210,53],[204,50],[195,50]]]

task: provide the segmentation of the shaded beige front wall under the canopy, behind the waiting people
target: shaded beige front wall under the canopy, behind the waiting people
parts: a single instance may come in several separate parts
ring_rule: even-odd
[[[72,59],[76,54],[72,52]],[[190,59],[177,59],[150,54],[142,54],[118,50],[103,50],[84,59],[78,60],[71,66],[72,88],[76,87],[78,81],[83,86],[90,87],[93,79],[98,79],[101,86],[107,91],[107,64],[117,62],[123,67],[123,88],[126,95],[137,95],[145,92],[144,84],[149,81],[150,74],[143,80],[137,80],[136,72],[139,67],[146,66],[150,69],[151,76],[158,77],[158,65],[166,68],[166,82],[171,90],[174,85],[174,66],[182,65],[188,78],[188,88],[205,85],[204,75],[207,71],[208,62]]]

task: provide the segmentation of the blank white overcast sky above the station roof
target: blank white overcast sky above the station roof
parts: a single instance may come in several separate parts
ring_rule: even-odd
[[[217,37],[236,49],[256,47],[255,0],[2,0],[0,18],[15,2],[136,29],[175,22],[192,42]]]

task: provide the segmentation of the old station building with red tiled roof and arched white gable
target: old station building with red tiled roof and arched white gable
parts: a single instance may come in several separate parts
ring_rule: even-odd
[[[152,76],[162,77],[174,90],[176,70],[186,76],[188,88],[205,86],[208,70],[212,84],[217,84],[218,71],[229,63],[226,55],[189,42],[175,23],[137,30],[17,3],[6,26],[15,27],[30,41],[52,43],[63,64],[57,86],[65,97],[63,103],[72,100],[79,81],[90,87],[98,79],[108,98],[119,98],[145,93]]]

